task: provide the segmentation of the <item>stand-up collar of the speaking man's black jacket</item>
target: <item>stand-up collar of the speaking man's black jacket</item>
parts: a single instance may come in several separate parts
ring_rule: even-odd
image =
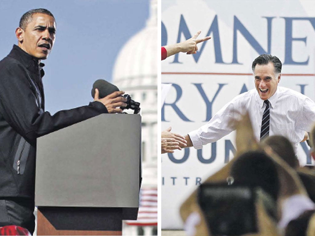
[[[44,72],[42,67],[45,65],[44,63],[39,63],[39,59],[31,56],[26,53],[23,49],[21,49],[17,45],[13,45],[11,52],[9,53],[10,57],[17,59],[22,65],[24,65],[28,70],[34,73],[38,73],[38,70],[41,70],[41,74]],[[43,76],[42,76],[43,77]]]

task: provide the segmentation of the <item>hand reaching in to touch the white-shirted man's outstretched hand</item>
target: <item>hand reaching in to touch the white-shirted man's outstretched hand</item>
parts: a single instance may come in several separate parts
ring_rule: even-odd
[[[161,133],[161,153],[173,153],[175,149],[181,150],[181,147],[186,147],[187,141],[179,134],[171,133],[172,127],[167,128]]]

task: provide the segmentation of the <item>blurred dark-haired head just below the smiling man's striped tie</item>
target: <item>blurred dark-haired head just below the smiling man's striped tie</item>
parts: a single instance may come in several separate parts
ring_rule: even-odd
[[[265,138],[262,143],[271,147],[271,149],[293,169],[296,169],[299,166],[292,143],[289,139],[281,135],[274,135]]]

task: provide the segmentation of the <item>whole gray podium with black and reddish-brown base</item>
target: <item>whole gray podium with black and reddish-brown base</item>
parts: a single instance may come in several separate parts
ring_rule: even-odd
[[[136,220],[141,116],[102,114],[37,139],[37,235],[121,235]]]

